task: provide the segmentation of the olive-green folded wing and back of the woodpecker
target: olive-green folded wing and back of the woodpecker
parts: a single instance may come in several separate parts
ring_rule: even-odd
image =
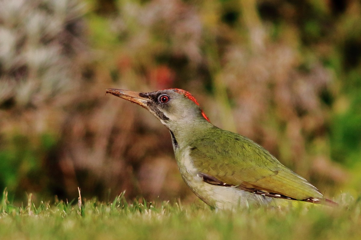
[[[213,131],[207,138],[191,144],[190,157],[200,173],[250,191],[280,194],[297,200],[323,198],[316,187],[283,166],[260,145],[236,133],[219,128]],[[212,135],[217,137],[212,138]]]

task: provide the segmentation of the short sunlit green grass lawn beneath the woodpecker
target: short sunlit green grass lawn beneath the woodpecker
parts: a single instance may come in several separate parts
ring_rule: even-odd
[[[336,208],[248,208],[233,212],[205,204],[56,201],[35,206],[9,204],[4,191],[1,239],[360,239],[361,201],[347,198]]]

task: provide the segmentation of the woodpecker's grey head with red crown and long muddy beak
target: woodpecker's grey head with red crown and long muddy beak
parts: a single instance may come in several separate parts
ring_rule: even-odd
[[[155,92],[106,89],[106,93],[139,104],[153,113],[170,130],[192,123],[209,122],[197,100],[182,89],[164,89]]]

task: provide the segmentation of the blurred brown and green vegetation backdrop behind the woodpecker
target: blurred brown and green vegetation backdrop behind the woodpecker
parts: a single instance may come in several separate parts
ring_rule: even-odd
[[[188,90],[327,196],[361,192],[358,0],[0,0],[0,190],[198,201],[108,87]]]

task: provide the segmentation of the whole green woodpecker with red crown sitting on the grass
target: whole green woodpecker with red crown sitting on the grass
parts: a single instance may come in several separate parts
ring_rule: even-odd
[[[184,182],[212,208],[337,204],[261,145],[210,123],[188,91],[109,88],[106,93],[142,106],[168,128]]]

